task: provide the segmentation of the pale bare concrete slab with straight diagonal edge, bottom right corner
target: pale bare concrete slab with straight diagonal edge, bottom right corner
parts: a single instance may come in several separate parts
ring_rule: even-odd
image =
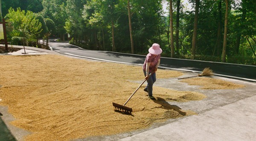
[[[119,141],[255,141],[256,95]]]

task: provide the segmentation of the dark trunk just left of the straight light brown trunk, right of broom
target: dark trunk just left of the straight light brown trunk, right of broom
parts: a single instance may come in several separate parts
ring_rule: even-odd
[[[215,47],[214,47],[214,50],[213,50],[213,53],[212,55],[215,54],[215,50],[217,52],[217,56],[221,55],[221,31],[222,31],[222,26],[221,26],[221,1],[222,0],[219,0],[219,3],[218,3],[218,33],[217,33],[217,41],[216,41],[216,44],[215,44]]]

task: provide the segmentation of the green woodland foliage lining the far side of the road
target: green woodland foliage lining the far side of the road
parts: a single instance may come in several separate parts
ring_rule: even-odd
[[[191,54],[195,0],[188,1],[193,9],[180,5],[179,47],[175,47],[175,58],[221,61],[225,1],[200,0],[194,58]],[[145,55],[153,43],[159,43],[162,56],[170,57],[169,15],[163,15],[162,2],[169,4],[169,0],[130,0],[136,54]],[[176,23],[177,0],[172,2],[172,20]],[[3,15],[12,23],[9,32],[13,35],[20,32],[29,42],[46,37],[46,33],[47,37],[55,35],[67,40],[64,34],[68,33],[71,43],[86,49],[112,51],[114,43],[116,52],[131,53],[127,0],[2,0],[2,4]],[[255,64],[256,5],[251,0],[229,0],[228,8],[227,62]],[[173,28],[176,38],[176,24]]]

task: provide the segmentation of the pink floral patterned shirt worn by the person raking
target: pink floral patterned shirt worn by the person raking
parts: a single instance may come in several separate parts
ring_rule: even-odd
[[[152,55],[151,53],[148,53],[148,55],[145,58],[145,62],[143,64],[143,70],[146,70],[146,64],[150,62],[149,66],[149,72],[152,72],[154,70],[154,67],[157,65],[157,61],[160,59],[160,55]]]

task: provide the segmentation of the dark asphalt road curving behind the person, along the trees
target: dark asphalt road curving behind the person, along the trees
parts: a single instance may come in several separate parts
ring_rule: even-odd
[[[59,43],[55,42],[54,40],[49,40],[49,46],[51,46],[52,50],[54,50],[55,52],[80,58],[139,65],[142,65],[145,60],[145,55],[132,55],[116,52],[86,50],[81,49],[78,46],[70,45],[67,42]],[[204,68],[209,67],[213,70],[215,75],[256,82],[256,66],[250,65],[161,57],[161,63],[159,67],[165,69],[178,69],[198,73],[201,73]]]

